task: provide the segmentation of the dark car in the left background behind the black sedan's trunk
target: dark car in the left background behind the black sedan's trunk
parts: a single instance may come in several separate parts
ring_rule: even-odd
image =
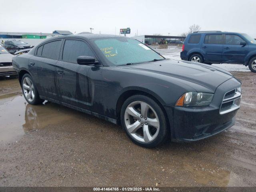
[[[4,47],[10,53],[15,53],[15,52],[17,52],[19,50],[22,50],[22,49],[32,48],[33,46],[31,46],[30,44],[28,44],[24,41],[20,41],[20,40],[6,40],[4,42]]]

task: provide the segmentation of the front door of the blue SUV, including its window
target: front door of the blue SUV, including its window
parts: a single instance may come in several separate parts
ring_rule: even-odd
[[[225,34],[223,46],[224,63],[244,63],[245,56],[248,54],[248,43],[243,46],[241,42],[246,42],[242,37],[235,34]]]

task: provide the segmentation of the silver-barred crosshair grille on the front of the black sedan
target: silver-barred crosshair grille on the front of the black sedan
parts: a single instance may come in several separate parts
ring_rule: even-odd
[[[239,108],[241,100],[241,88],[227,92],[220,106],[220,114],[225,114]]]

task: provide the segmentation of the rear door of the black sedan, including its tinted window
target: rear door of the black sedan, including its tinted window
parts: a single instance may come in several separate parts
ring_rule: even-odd
[[[47,42],[35,50],[29,60],[29,69],[41,96],[58,100],[55,65],[59,59],[62,39]]]

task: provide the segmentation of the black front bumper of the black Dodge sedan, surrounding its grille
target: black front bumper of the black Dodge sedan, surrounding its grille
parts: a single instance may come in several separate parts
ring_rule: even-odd
[[[218,134],[233,126],[238,109],[220,114],[220,106],[225,93],[240,86],[240,82],[235,78],[224,82],[216,89],[212,103],[209,106],[165,106],[172,141],[197,141]]]

